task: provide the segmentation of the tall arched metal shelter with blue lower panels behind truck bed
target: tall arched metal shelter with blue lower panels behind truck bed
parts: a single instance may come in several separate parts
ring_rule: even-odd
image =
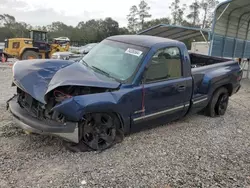
[[[211,55],[250,57],[250,0],[231,0],[219,5],[213,25]]]

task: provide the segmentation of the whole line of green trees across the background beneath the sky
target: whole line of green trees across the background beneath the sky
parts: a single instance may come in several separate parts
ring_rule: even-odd
[[[194,0],[187,6],[181,4],[180,0],[173,0],[169,7],[171,16],[151,19],[150,6],[145,0],[141,0],[139,5],[133,5],[129,9],[127,27],[120,27],[119,23],[111,17],[81,21],[75,27],[60,21],[52,22],[47,26],[31,26],[25,22],[16,21],[12,15],[0,14],[0,41],[13,37],[29,37],[31,29],[48,31],[50,40],[65,36],[72,41],[88,43],[99,42],[112,35],[137,33],[161,23],[208,28],[212,23],[212,10],[217,4],[217,0]]]

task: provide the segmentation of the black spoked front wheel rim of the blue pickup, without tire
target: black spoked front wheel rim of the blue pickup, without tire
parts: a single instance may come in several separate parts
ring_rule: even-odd
[[[86,117],[83,126],[83,140],[94,150],[112,146],[116,136],[114,118],[108,114],[96,113]]]

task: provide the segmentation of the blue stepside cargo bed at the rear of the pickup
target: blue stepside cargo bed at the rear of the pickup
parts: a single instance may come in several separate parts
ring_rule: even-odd
[[[237,61],[192,54],[193,97],[192,101],[210,100],[216,88],[225,86],[232,95],[239,89],[240,66]],[[190,58],[190,59],[192,59]],[[197,63],[197,65],[195,64]],[[194,66],[196,65],[196,66]],[[195,113],[204,106],[192,109]]]

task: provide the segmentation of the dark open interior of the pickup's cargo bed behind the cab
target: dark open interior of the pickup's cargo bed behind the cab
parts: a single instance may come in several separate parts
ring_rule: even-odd
[[[213,65],[217,63],[223,63],[230,61],[229,59],[219,58],[219,57],[212,57],[202,54],[196,54],[196,53],[189,53],[190,61],[191,61],[191,67],[203,67],[206,65]]]

